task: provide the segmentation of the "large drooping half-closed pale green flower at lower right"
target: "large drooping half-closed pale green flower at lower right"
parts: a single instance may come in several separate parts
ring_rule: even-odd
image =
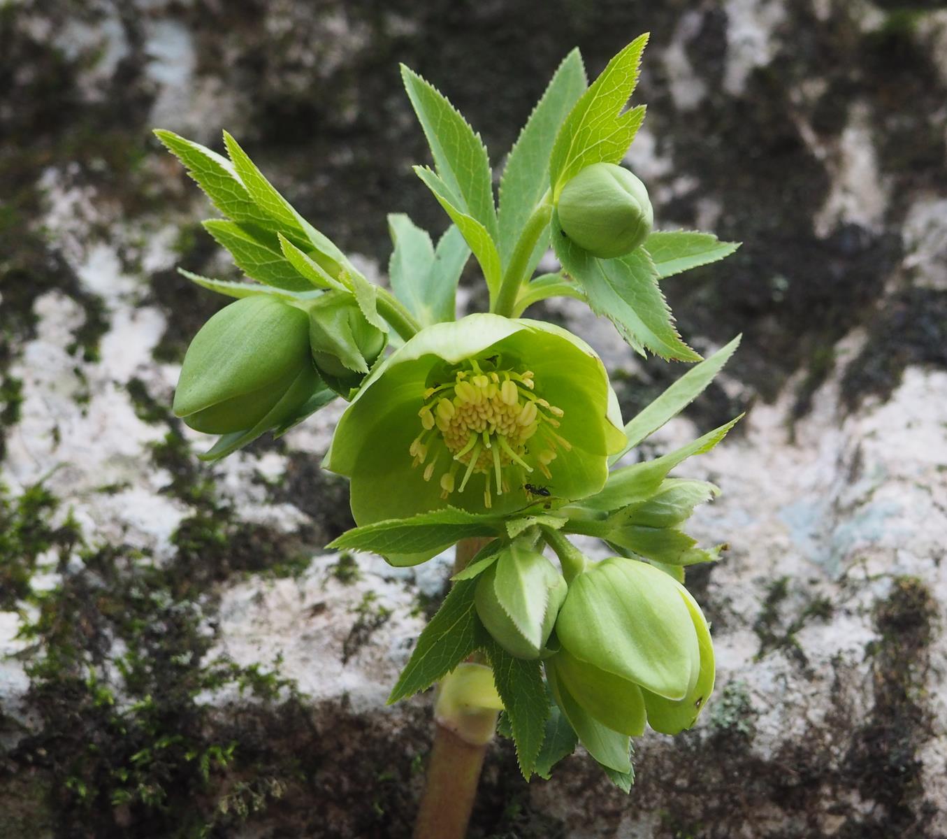
[[[560,683],[599,723],[640,734],[689,728],[713,690],[713,645],[688,590],[647,562],[615,557],[569,586],[556,621]]]

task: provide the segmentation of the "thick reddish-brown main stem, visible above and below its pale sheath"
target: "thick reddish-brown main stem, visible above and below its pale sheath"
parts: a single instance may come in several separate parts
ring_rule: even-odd
[[[489,539],[461,539],[454,572],[462,571]],[[487,743],[471,743],[446,725],[435,724],[414,839],[463,839],[474,809]]]

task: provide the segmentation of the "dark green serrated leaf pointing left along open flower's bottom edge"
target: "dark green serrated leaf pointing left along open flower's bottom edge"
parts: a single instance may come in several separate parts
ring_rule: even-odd
[[[328,546],[338,550],[365,550],[380,554],[440,551],[471,536],[495,536],[502,520],[446,507],[408,519],[387,519],[353,527]]]

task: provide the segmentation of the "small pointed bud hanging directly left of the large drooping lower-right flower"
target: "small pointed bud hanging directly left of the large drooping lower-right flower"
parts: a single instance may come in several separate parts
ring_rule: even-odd
[[[532,659],[545,648],[566,590],[552,562],[528,540],[516,540],[480,575],[474,603],[497,644],[510,655]]]

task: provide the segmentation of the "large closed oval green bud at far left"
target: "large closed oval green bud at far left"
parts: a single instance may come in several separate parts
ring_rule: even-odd
[[[306,312],[253,295],[225,306],[194,336],[173,410],[205,434],[261,434],[294,417],[320,384]]]

